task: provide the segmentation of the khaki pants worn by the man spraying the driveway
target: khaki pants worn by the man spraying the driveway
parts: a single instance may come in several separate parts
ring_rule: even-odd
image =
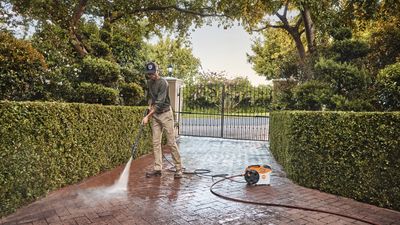
[[[172,159],[176,170],[182,170],[181,156],[175,141],[174,117],[172,110],[153,114],[151,129],[153,131],[154,170],[162,170],[161,139],[163,129],[167,135],[167,146],[171,148]]]

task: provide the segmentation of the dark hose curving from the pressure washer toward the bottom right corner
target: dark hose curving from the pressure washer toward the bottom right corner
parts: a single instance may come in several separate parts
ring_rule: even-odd
[[[243,176],[243,175],[234,175],[234,176],[224,177],[223,179],[214,182],[210,187],[211,193],[213,193],[214,195],[216,195],[216,196],[218,196],[220,198],[223,198],[223,199],[226,199],[226,200],[230,200],[230,201],[235,201],[235,202],[241,202],[241,203],[253,204],[253,205],[283,207],[283,208],[298,209],[298,210],[312,211],[312,212],[319,212],[319,213],[326,213],[326,214],[340,216],[340,217],[344,217],[344,218],[348,218],[348,219],[357,220],[357,221],[360,221],[360,222],[363,222],[363,223],[367,223],[367,224],[371,224],[371,225],[378,225],[377,223],[374,223],[374,222],[371,222],[371,221],[368,221],[368,220],[364,220],[364,219],[360,219],[360,218],[357,218],[357,217],[345,215],[345,214],[329,212],[329,211],[325,211],[325,210],[321,210],[321,209],[313,209],[313,208],[307,208],[307,207],[301,207],[301,206],[294,206],[294,205],[277,204],[277,203],[266,203],[266,202],[254,202],[254,201],[249,201],[249,200],[243,200],[243,199],[228,197],[228,196],[219,194],[219,193],[217,193],[217,192],[215,192],[213,190],[213,187],[216,184],[218,184],[218,183],[220,183],[220,182],[222,182],[224,180],[231,179],[231,178],[234,178],[234,177],[240,177],[240,176]]]

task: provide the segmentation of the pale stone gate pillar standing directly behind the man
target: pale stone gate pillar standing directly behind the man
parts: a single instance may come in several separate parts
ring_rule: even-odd
[[[175,122],[178,123],[181,116],[179,112],[182,111],[183,106],[183,95],[180,93],[181,88],[183,87],[183,81],[174,77],[165,77],[165,79],[169,85],[168,94],[171,100],[172,110],[174,110]]]

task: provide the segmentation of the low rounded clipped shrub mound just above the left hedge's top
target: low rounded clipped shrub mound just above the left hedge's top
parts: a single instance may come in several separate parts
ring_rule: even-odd
[[[118,105],[119,91],[101,84],[81,83],[77,90],[77,102]]]

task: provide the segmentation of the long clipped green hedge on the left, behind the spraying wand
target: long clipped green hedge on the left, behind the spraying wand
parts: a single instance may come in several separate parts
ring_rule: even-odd
[[[145,108],[0,102],[0,216],[125,164]],[[147,126],[137,155],[151,148]]]

